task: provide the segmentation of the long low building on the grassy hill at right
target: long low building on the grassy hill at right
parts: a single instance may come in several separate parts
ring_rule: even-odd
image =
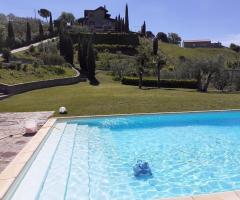
[[[183,47],[185,48],[222,48],[220,42],[212,43],[211,40],[184,40]]]

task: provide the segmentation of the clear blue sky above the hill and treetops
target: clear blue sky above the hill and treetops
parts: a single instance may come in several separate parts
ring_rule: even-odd
[[[154,33],[176,32],[183,39],[240,44],[239,0],[0,0],[0,13],[34,16],[34,9],[48,8],[54,17],[62,11],[81,17],[84,9],[106,5],[115,17],[124,15],[126,3],[132,30],[139,30],[146,20],[147,29]]]

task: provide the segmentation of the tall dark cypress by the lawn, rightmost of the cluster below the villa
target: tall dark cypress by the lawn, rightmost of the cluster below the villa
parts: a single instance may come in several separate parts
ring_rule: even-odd
[[[93,45],[91,40],[88,43],[87,67],[88,67],[89,80],[90,81],[95,80],[96,61],[95,61],[95,55],[94,55],[94,50],[93,50]]]

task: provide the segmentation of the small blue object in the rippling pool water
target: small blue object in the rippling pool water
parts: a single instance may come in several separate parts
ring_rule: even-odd
[[[135,177],[149,177],[152,176],[152,170],[147,162],[138,160],[137,164],[133,167]]]

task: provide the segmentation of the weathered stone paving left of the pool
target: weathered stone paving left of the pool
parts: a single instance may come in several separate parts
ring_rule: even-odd
[[[54,112],[0,113],[0,173],[15,158],[33,135],[24,135],[25,122],[36,120],[38,129]]]

